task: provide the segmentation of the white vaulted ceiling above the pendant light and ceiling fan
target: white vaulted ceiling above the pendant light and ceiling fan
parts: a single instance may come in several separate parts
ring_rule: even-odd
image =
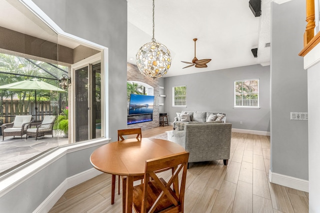
[[[252,64],[269,65],[270,0],[262,0],[254,17],[248,0],[155,0],[154,38],[170,51],[171,67],[165,77]],[[152,0],[127,0],[127,62],[135,63],[138,49],[152,38]],[[194,56],[211,58],[207,68],[180,61]],[[257,58],[251,49],[258,48]]]

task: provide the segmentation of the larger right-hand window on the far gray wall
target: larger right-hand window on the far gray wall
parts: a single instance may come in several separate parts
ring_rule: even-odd
[[[259,79],[234,81],[234,107],[259,107]]]

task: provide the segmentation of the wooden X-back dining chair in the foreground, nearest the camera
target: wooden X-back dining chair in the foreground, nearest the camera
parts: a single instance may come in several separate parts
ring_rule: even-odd
[[[183,212],[188,158],[189,152],[182,152],[150,159],[145,162],[144,180],[151,181],[144,181],[141,185],[142,191],[139,193],[140,190],[137,190],[133,193],[137,193],[137,196],[133,196],[133,206],[134,208],[137,207],[137,212],[139,212],[139,209],[140,213],[153,213],[154,211],[158,212],[160,210]],[[159,178],[161,173],[158,173],[158,171],[166,170],[167,168],[170,168],[172,172],[170,172],[171,176],[166,182],[162,178]],[[178,177],[180,174],[182,175],[181,178]],[[136,199],[141,200],[135,202],[134,200]],[[140,208],[138,207],[139,204],[141,204]]]

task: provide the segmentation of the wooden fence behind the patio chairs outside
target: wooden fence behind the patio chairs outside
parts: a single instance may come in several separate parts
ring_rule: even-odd
[[[33,120],[42,120],[44,115],[57,115],[67,106],[65,101],[37,101],[37,116],[35,118],[35,103],[33,101],[3,100],[0,103],[0,124],[10,123],[16,115],[32,115]]]

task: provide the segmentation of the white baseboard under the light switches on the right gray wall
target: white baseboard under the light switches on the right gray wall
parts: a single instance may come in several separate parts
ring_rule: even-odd
[[[284,187],[289,187],[295,190],[300,190],[303,192],[309,192],[309,182],[306,180],[293,178],[286,175],[281,175],[277,173],[272,173],[269,170],[269,182],[273,184],[278,184]]]

